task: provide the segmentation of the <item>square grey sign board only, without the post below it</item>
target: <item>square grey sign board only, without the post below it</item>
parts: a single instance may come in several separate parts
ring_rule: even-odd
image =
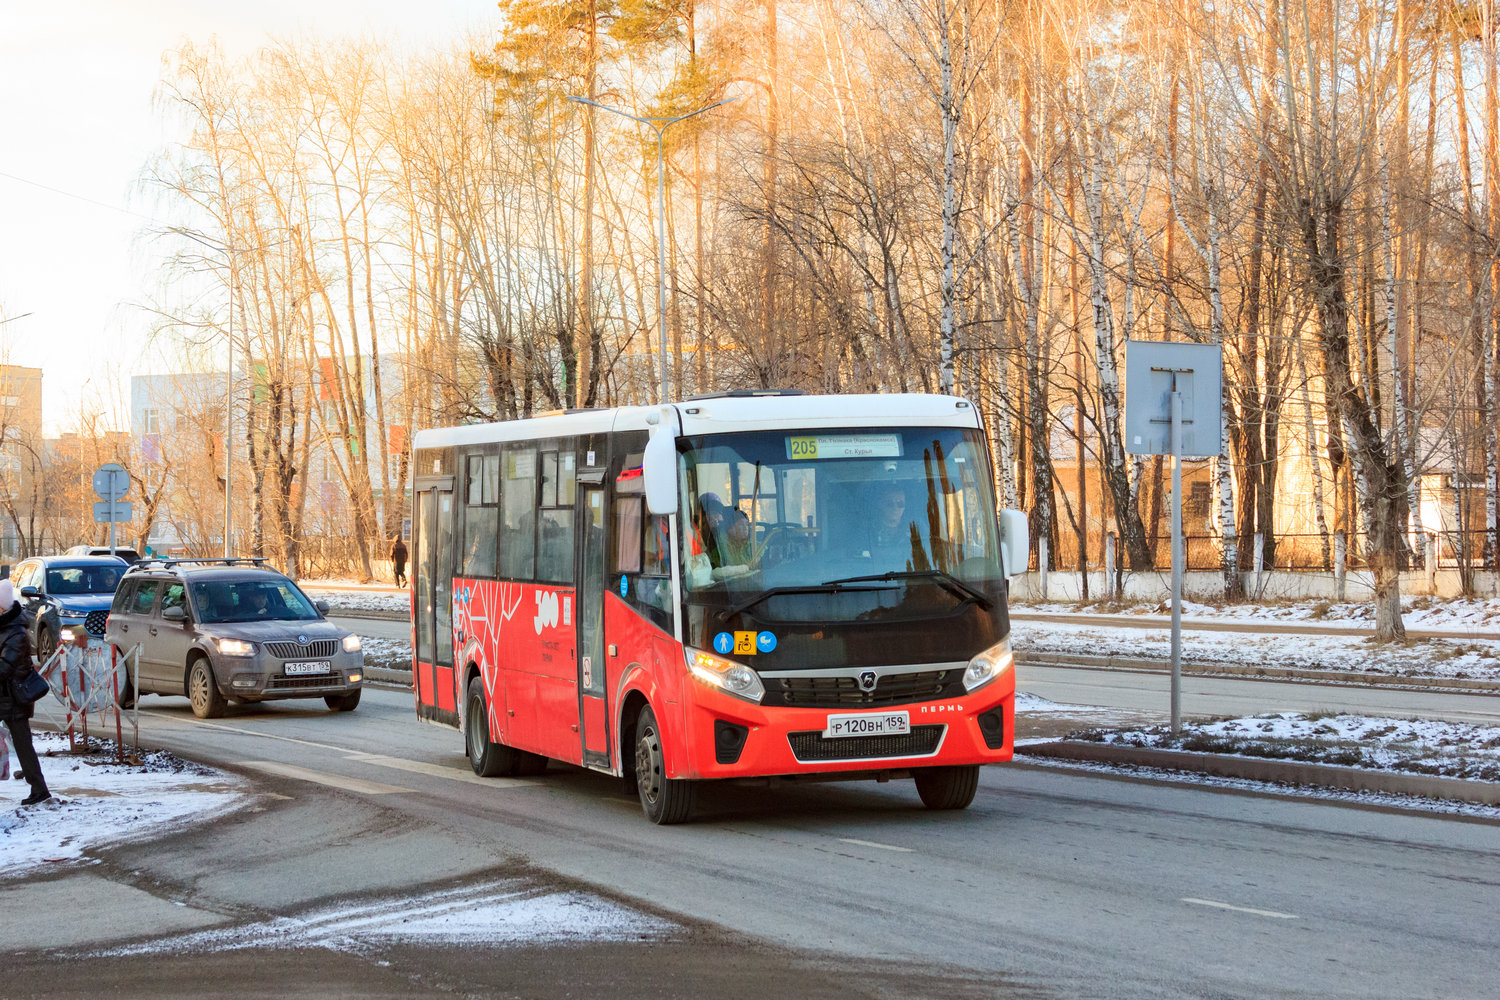
[[[1182,394],[1182,454],[1215,457],[1224,349],[1216,343],[1125,342],[1125,451],[1172,454],[1172,393]]]

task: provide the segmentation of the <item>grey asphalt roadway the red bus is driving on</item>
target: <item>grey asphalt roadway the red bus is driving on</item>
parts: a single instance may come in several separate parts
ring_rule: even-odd
[[[1494,825],[1008,765],[957,814],[924,811],[906,781],[711,787],[696,823],[654,828],[591,772],[474,778],[459,735],[418,724],[400,691],[368,690],[345,715],[297,703],[216,721],[150,697],[142,718],[147,742],[267,795],[0,883],[4,912],[51,918],[8,928],[12,996],[62,969],[96,991],[116,975],[123,993],[306,984],[284,996],[1460,997],[1500,976]],[[680,933],[492,961],[296,946],[302,915],[330,901],[500,877],[580,886]],[[146,960],[98,957],[266,921],[282,928],[274,961],[168,940],[153,981]]]

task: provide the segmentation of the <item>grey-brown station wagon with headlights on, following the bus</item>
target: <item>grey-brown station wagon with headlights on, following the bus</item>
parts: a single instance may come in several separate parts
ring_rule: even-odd
[[[360,637],[327,618],[264,559],[147,559],[116,591],[105,640],[124,655],[120,705],[136,694],[186,694],[198,718],[230,702],[321,697],[330,709],[360,703]]]

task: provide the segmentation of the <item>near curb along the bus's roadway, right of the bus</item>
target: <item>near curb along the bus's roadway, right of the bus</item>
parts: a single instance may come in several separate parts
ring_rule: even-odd
[[[1017,747],[1016,754],[1056,760],[1082,760],[1088,763],[1137,765],[1143,768],[1161,768],[1164,771],[1206,774],[1218,778],[1316,786],[1342,792],[1382,792],[1384,795],[1412,795],[1424,799],[1452,799],[1458,802],[1476,802],[1479,805],[1500,805],[1500,784],[1492,781],[1470,781],[1468,778],[1365,771],[1362,768],[1240,757],[1236,754],[1198,754],[1182,750],[1116,747],[1078,739],[1026,744]]]

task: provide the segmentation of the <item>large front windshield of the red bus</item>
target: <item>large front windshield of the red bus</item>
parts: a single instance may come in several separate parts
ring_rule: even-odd
[[[680,453],[690,604],[852,622],[988,607],[1004,586],[978,430],[758,430]]]

